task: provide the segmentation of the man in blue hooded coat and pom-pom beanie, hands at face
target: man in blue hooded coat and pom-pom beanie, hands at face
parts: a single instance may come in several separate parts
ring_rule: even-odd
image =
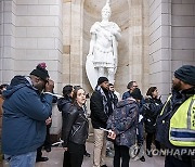
[[[52,112],[53,88],[41,63],[29,77],[15,76],[3,91],[2,151],[10,167],[35,167],[37,149],[46,139],[46,120]]]

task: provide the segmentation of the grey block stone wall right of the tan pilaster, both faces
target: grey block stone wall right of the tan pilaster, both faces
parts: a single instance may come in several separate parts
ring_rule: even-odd
[[[159,88],[162,100],[173,72],[195,65],[194,7],[194,0],[150,0],[150,85]]]

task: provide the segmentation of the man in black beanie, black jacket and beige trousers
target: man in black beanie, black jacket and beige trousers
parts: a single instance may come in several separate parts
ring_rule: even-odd
[[[108,79],[100,77],[95,91],[90,99],[91,123],[94,128],[93,167],[106,167],[106,136],[105,131],[100,128],[106,128],[107,119],[113,113],[114,106]]]

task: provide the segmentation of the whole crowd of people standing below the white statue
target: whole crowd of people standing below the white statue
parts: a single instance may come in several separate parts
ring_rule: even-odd
[[[15,76],[10,85],[0,86],[0,159],[4,157],[10,167],[35,167],[36,162],[48,160],[41,151],[44,147],[51,152],[53,103],[62,113],[63,167],[81,167],[83,156],[90,156],[86,150],[87,110],[93,127],[93,167],[107,167],[107,141],[114,145],[114,167],[129,167],[133,145],[152,157],[153,142],[158,154],[165,156],[165,167],[195,166],[195,154],[190,154],[195,150],[195,66],[184,65],[174,72],[165,104],[157,87],[148,88],[143,95],[136,81],[128,84],[128,91],[120,99],[114,85],[100,77],[88,97],[90,108],[80,86],[66,85],[60,99],[54,97],[53,88],[44,63],[38,64],[29,76]],[[179,153],[173,154],[174,151]],[[139,159],[145,162],[144,152]]]

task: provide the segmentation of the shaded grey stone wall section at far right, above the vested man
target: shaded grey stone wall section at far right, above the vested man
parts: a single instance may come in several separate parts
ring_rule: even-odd
[[[195,0],[172,0],[172,72],[183,64],[195,65]]]

